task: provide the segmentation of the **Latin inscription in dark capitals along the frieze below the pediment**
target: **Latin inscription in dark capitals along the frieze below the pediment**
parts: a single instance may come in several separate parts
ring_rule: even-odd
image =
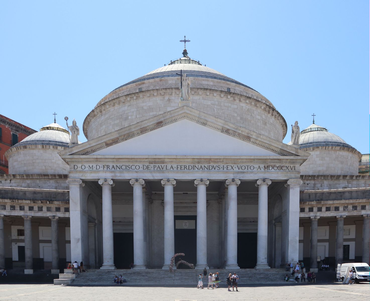
[[[198,171],[240,172],[240,171],[296,171],[295,165],[245,165],[245,164],[77,164],[75,171]]]

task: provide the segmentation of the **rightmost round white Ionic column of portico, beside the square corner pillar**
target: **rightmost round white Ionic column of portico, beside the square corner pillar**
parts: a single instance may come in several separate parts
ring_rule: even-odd
[[[270,179],[259,179],[258,187],[258,224],[257,224],[257,264],[258,268],[270,268],[267,263],[268,246],[268,193]]]

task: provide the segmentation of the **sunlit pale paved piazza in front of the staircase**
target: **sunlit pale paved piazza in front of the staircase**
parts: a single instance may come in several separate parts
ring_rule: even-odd
[[[105,296],[105,297],[103,297]],[[240,287],[240,292],[227,288],[199,290],[193,287],[115,287],[115,286],[56,286],[52,284],[4,284],[0,287],[0,300],[286,300],[287,296],[300,296],[304,300],[331,300],[356,298],[369,300],[369,284],[342,285],[264,285]]]

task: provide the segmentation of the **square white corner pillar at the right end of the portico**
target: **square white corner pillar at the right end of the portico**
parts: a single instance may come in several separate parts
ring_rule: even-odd
[[[290,179],[285,184],[287,187],[286,197],[286,224],[287,233],[283,235],[287,236],[285,261],[286,262],[298,262],[299,256],[299,186],[302,185],[300,179]]]

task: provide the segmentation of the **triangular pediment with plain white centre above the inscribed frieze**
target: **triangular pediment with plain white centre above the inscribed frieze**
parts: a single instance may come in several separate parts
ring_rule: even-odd
[[[307,156],[267,136],[182,106],[60,152],[68,155]]]

